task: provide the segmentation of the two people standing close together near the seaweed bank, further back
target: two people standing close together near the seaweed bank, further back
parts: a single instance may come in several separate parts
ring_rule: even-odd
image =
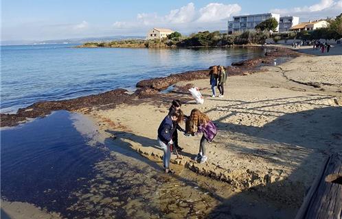
[[[227,81],[227,73],[225,71],[225,67],[211,66],[209,69],[210,85],[212,86],[213,92],[212,97],[216,96],[216,86],[218,88],[218,91],[220,92],[220,94],[218,94],[218,97],[223,97],[223,95],[225,94],[225,83]]]

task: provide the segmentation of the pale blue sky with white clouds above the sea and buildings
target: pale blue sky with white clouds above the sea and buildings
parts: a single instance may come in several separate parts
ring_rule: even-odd
[[[267,12],[301,22],[334,18],[342,0],[1,0],[1,41],[145,36],[153,27],[191,34],[227,29],[235,15]]]

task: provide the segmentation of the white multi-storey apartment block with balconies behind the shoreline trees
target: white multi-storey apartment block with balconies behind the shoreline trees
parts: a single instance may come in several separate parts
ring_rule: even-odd
[[[275,18],[278,23],[280,21],[280,15],[273,13],[233,16],[233,21],[228,21],[228,34],[244,32],[247,30],[252,31],[255,29],[256,25],[269,18]],[[279,31],[279,25],[276,30]]]

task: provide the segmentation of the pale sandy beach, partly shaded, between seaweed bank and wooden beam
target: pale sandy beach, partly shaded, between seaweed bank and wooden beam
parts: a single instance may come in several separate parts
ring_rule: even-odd
[[[229,77],[224,98],[212,98],[209,81],[192,81],[205,103],[189,101],[207,113],[220,130],[207,144],[205,164],[192,162],[201,136],[179,135],[183,159],[174,164],[226,181],[236,191],[258,190],[284,203],[301,203],[328,154],[342,149],[342,55],[303,55],[264,73]],[[177,83],[183,86],[186,83]],[[177,90],[180,96],[187,96]],[[156,141],[170,99],[120,105],[90,116],[117,146],[129,146],[146,157],[161,159]]]

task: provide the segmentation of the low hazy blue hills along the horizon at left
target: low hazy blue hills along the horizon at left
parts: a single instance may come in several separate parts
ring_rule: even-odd
[[[62,40],[4,40],[1,45],[20,45],[20,44],[83,44],[85,42],[110,42],[113,40],[145,39],[145,36],[104,36],[91,38],[72,38]]]

